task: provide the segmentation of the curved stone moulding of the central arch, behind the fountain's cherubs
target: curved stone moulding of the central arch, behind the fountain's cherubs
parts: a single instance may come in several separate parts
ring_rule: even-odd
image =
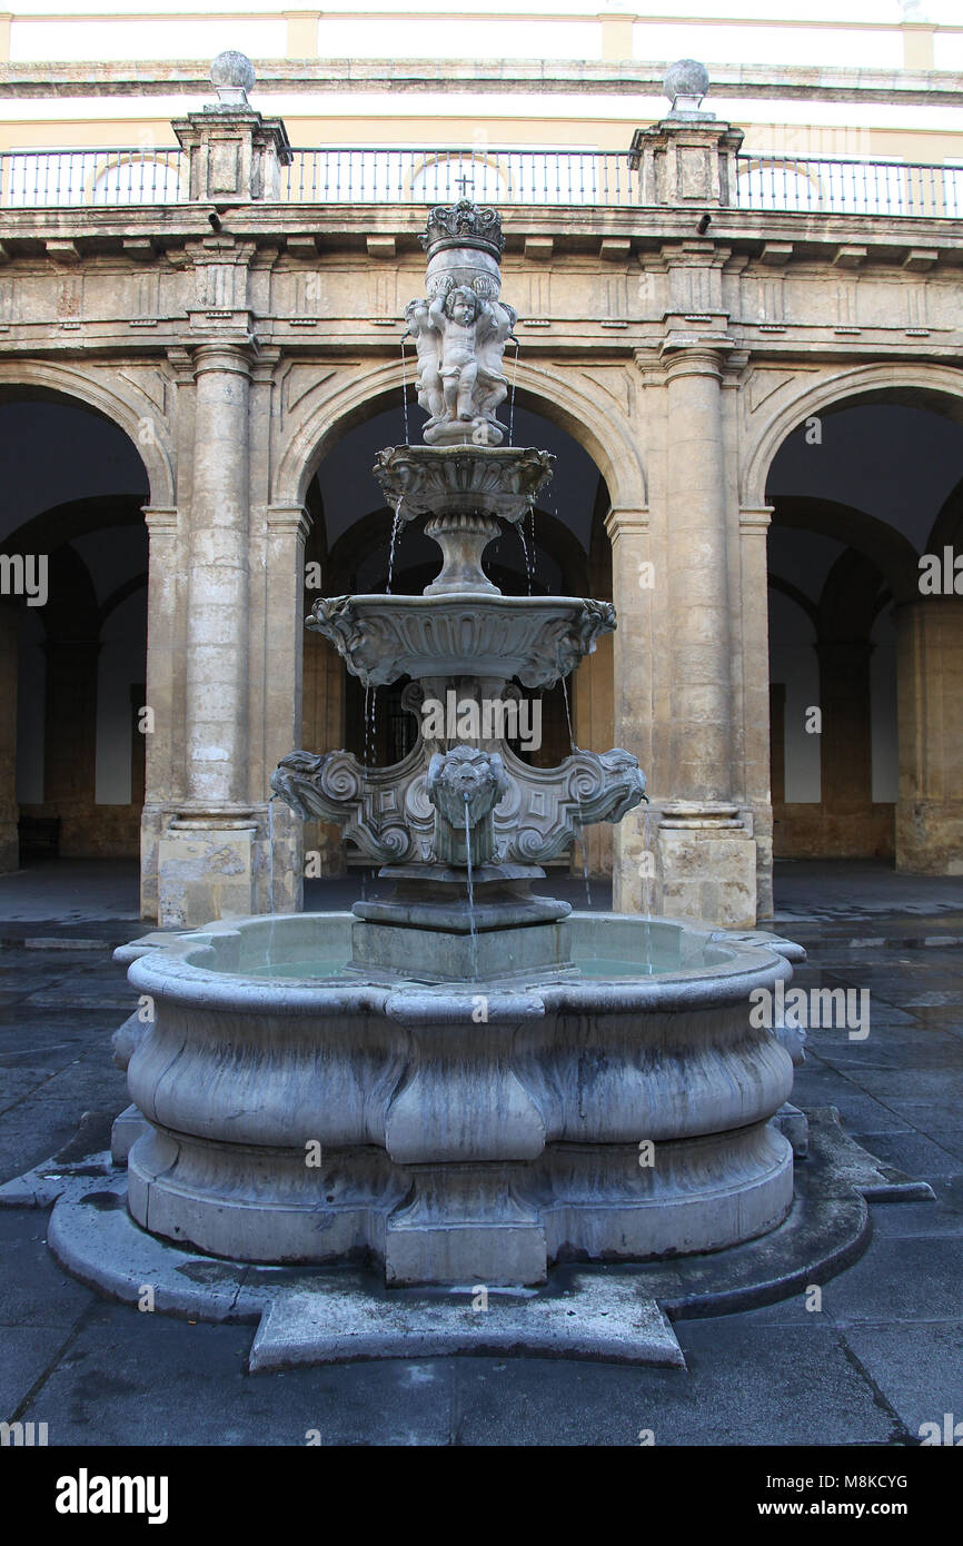
[[[388,399],[402,386],[400,359],[382,360],[363,374],[332,385],[334,391],[306,410],[283,447],[274,492],[278,506],[303,506],[332,438],[390,405]],[[645,472],[631,425],[612,413],[611,404],[603,405],[572,380],[527,362],[518,365],[518,400],[550,419],[587,451],[606,479],[612,506],[631,510],[646,507]],[[420,419],[413,419],[413,433],[417,424]]]

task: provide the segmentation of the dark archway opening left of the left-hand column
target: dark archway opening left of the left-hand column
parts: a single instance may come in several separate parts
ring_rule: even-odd
[[[3,863],[51,853],[136,860],[145,465],[104,413],[12,385],[0,394],[0,566],[12,614],[2,671],[15,705],[3,762]],[[74,498],[59,498],[71,490]],[[31,566],[43,569],[43,594],[17,584]]]

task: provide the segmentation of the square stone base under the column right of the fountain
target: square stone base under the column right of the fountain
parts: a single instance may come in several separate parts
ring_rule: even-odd
[[[751,818],[750,818],[751,821]],[[658,911],[747,929],[756,923],[756,839],[739,805],[672,801],[655,839]]]

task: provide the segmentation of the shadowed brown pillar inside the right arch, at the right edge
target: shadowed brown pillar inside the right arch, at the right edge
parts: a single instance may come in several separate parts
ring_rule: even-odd
[[[897,611],[897,869],[963,875],[963,598]]]

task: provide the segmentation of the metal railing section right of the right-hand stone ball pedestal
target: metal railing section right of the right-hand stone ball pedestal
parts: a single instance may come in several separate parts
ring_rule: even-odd
[[[935,220],[963,215],[963,165],[744,153],[736,167],[740,209]]]

